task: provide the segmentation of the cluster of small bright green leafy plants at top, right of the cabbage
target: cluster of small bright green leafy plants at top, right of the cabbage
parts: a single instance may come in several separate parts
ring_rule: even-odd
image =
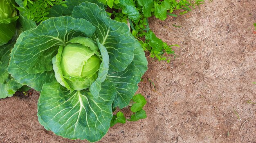
[[[157,38],[150,30],[148,17],[155,16],[159,20],[165,20],[167,15],[177,17],[173,11],[180,10],[180,15],[191,11],[191,8],[199,6],[204,0],[99,0],[113,9],[109,15],[119,22],[129,23],[132,35],[141,43],[143,49],[150,53],[151,58],[159,61],[170,62],[170,57],[165,53],[173,54],[171,47],[177,44],[168,45]],[[175,26],[175,25],[174,25]],[[175,26],[180,27],[180,26]]]

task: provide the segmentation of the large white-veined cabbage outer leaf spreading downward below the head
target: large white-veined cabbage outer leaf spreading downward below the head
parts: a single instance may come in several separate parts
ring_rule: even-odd
[[[43,86],[39,102],[40,124],[69,139],[99,141],[110,127],[115,85],[105,81],[98,98],[89,91],[70,93],[58,82]]]

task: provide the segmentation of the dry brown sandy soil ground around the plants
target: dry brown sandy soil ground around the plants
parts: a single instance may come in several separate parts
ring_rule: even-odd
[[[148,59],[138,91],[148,117],[115,125],[99,143],[256,143],[256,104],[247,103],[256,102],[255,8],[255,0],[213,0],[164,22],[150,19],[157,37],[180,44],[177,57]],[[38,96],[0,100],[0,143],[87,143],[44,130]]]

